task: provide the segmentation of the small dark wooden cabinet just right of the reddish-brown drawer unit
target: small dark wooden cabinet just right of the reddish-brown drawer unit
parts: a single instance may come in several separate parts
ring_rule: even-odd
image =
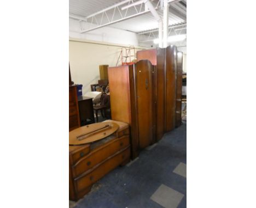
[[[95,122],[92,97],[78,96],[78,108],[81,126]]]

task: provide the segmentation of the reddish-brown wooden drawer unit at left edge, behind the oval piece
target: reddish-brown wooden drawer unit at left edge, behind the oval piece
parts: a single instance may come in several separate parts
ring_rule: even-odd
[[[69,131],[77,129],[80,126],[77,87],[69,86]]]

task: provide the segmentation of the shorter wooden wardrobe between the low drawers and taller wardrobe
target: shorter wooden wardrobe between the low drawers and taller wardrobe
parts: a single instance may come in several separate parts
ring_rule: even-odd
[[[113,120],[130,124],[132,158],[156,141],[156,71],[149,60],[108,68]]]

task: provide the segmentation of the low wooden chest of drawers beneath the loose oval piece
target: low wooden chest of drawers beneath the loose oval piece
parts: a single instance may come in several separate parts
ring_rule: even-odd
[[[97,142],[69,146],[69,200],[82,198],[110,170],[130,161],[129,125],[107,120],[119,129]]]

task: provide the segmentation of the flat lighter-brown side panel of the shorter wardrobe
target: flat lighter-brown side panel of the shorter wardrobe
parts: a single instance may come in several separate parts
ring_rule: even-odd
[[[131,124],[129,66],[109,67],[108,75],[112,119]]]

